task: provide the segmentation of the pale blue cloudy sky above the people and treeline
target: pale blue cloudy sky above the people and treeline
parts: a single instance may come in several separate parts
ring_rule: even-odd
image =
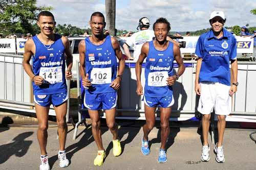
[[[104,0],[37,0],[38,6],[52,6],[57,23],[70,23],[88,28],[95,11],[105,15]],[[135,31],[139,18],[146,16],[153,25],[158,17],[169,20],[172,31],[196,31],[209,27],[209,15],[214,10],[225,13],[226,26],[256,26],[255,0],[116,0],[116,28]],[[151,27],[152,29],[152,27]]]

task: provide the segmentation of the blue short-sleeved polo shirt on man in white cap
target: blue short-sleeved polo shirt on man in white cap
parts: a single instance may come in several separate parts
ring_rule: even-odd
[[[202,58],[199,82],[219,82],[230,86],[229,60],[237,59],[237,40],[223,28],[223,37],[212,30],[202,34],[196,46],[196,55]]]

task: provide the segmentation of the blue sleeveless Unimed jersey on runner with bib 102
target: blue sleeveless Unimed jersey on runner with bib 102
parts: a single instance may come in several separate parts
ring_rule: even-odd
[[[117,58],[112,47],[111,37],[106,36],[101,45],[94,45],[90,38],[86,38],[86,74],[92,86],[86,89],[86,93],[114,92],[110,84],[116,79]]]

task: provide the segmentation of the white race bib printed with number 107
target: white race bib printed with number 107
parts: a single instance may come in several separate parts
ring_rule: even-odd
[[[156,87],[166,86],[168,77],[167,71],[150,72],[147,77],[147,85]]]

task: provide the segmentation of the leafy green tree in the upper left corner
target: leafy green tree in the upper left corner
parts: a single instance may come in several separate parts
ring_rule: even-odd
[[[37,31],[33,26],[40,11],[52,7],[37,7],[36,0],[1,0],[0,28],[4,34],[32,33]]]

